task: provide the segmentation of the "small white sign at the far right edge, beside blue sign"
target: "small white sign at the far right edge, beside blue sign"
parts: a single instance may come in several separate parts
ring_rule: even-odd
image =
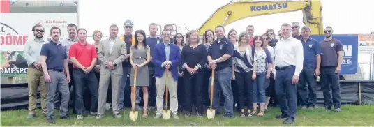
[[[359,35],[359,53],[374,54],[374,34]]]

